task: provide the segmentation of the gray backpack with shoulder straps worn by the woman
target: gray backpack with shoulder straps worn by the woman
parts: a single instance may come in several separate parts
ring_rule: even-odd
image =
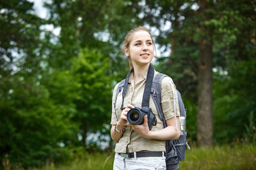
[[[167,75],[162,74],[162,73],[156,74],[154,76],[154,78],[152,80],[152,84],[151,84],[152,99],[154,100],[160,120],[163,121],[164,128],[166,128],[167,124],[166,124],[166,120],[164,118],[164,114],[162,111],[162,105],[161,105],[161,82],[165,76],[167,76]],[[125,80],[126,79],[122,80],[118,84],[115,101],[117,101],[117,96],[118,96],[119,92],[121,92],[124,89],[123,87],[125,86]],[[179,168],[179,162],[181,160],[185,160],[185,147],[187,146],[187,148],[190,150],[190,147],[189,147],[189,145],[187,143],[187,139],[186,139],[187,132],[186,132],[185,119],[187,118],[187,115],[186,115],[187,109],[184,108],[184,104],[183,104],[183,100],[181,98],[180,92],[177,90],[176,90],[176,92],[177,92],[177,96],[178,96],[179,110],[180,110],[181,133],[180,133],[179,139],[166,141],[166,167],[167,167],[167,170]],[[122,105],[122,107],[123,107],[123,105]],[[115,108],[115,103],[114,103],[114,108]]]

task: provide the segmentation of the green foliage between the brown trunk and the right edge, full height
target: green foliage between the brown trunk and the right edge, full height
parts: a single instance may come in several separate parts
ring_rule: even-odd
[[[222,67],[214,73],[214,134],[218,143],[238,139],[254,142],[256,5],[254,1],[228,2],[221,4],[226,14],[221,20],[225,36],[215,45]]]

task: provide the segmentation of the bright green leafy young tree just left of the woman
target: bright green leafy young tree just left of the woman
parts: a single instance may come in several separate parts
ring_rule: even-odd
[[[109,74],[109,59],[97,49],[85,48],[72,60],[72,75],[79,87],[73,121],[80,125],[82,143],[89,131],[102,129],[110,121],[113,77]]]

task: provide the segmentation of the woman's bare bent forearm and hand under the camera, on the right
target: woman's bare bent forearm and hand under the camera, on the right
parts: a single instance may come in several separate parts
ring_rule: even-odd
[[[147,116],[144,117],[143,125],[133,125],[129,123],[128,124],[133,127],[133,130],[137,131],[144,138],[159,139],[159,140],[175,140],[175,139],[179,139],[180,137],[179,117],[177,116],[176,119],[177,119],[178,129],[176,129],[175,117],[172,117],[166,120],[167,127],[158,131],[152,131],[152,130],[150,131],[148,129]]]

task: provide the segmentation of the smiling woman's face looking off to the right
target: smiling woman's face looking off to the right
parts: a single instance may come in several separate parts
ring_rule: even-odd
[[[129,48],[125,48],[125,54],[130,56],[133,65],[143,66],[150,63],[154,57],[154,47],[151,36],[146,31],[135,32]]]

